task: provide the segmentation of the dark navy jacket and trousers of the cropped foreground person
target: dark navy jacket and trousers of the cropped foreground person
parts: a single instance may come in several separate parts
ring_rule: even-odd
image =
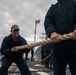
[[[59,1],[63,1],[60,3]],[[52,32],[66,34],[76,29],[76,7],[73,0],[58,0],[52,5],[45,17],[45,30],[50,37]],[[66,75],[67,63],[72,75],[76,75],[76,40],[54,43],[53,67],[54,75]]]

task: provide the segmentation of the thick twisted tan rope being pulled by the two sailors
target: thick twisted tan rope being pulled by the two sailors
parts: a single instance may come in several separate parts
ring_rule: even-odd
[[[63,40],[69,40],[71,38],[72,38],[72,33],[69,33],[69,34],[64,34],[61,37],[59,37],[59,40],[63,41]],[[48,43],[52,43],[52,40],[51,39],[47,39],[47,40],[44,40],[44,41],[40,41],[40,42],[36,42],[36,43],[31,43],[29,45],[32,46],[32,47],[35,47],[35,46],[39,46],[39,45],[43,45],[43,44],[48,44]],[[27,48],[26,45],[18,46],[17,47],[18,50],[25,49],[25,48]]]

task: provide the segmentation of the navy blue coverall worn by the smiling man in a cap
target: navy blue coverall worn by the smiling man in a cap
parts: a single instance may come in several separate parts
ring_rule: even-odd
[[[5,37],[3,39],[2,45],[1,45],[1,53],[4,55],[2,59],[2,66],[0,69],[0,75],[8,75],[8,68],[10,65],[14,62],[17,64],[21,75],[31,75],[31,72],[29,71],[29,68],[23,59],[23,53],[27,50],[21,50],[18,52],[12,53],[11,48],[14,46],[21,46],[27,44],[26,40],[22,38],[20,35],[16,39],[16,41],[13,41],[12,35]]]

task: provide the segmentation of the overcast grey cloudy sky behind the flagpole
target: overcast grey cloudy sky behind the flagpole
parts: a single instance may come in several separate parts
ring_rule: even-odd
[[[51,4],[57,0],[0,0],[0,45],[5,36],[10,34],[13,24],[20,27],[20,35],[28,43],[34,42],[35,20],[40,20],[36,27],[36,42],[45,37],[44,19]]]

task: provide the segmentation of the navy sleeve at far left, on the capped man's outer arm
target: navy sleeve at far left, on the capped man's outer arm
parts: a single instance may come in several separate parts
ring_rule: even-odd
[[[12,55],[12,51],[11,49],[8,48],[7,46],[7,39],[4,38],[2,45],[1,45],[1,54],[2,55],[6,55],[6,56],[11,56]]]

